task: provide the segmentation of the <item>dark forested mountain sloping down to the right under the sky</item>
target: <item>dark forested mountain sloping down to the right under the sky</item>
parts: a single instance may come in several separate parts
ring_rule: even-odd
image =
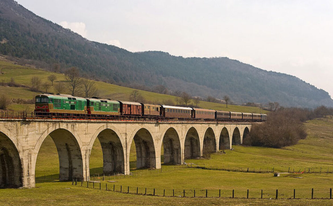
[[[12,0],[0,0],[0,54],[51,68],[77,66],[111,83],[181,90],[237,102],[277,101],[283,106],[333,106],[329,94],[297,77],[262,70],[226,57],[183,58],[161,51],[130,52],[89,41]]]

